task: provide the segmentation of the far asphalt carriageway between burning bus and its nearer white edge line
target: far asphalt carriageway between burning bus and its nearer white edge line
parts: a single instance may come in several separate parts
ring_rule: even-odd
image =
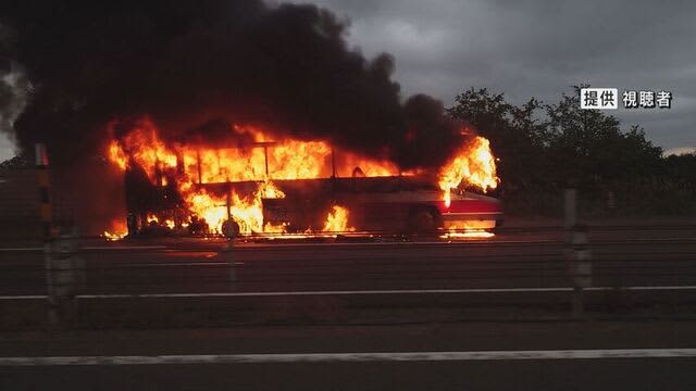
[[[691,230],[591,237],[593,286],[696,286]],[[432,242],[90,243],[85,294],[571,287],[558,231]],[[46,293],[40,249],[0,249],[0,295]]]

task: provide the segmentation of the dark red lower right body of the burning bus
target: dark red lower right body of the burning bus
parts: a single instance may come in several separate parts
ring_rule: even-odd
[[[374,234],[422,234],[438,229],[493,229],[502,220],[499,200],[456,192],[449,205],[443,191],[417,177],[331,178],[278,184],[282,199],[263,200],[263,219],[288,232],[326,230],[339,206],[346,230]]]

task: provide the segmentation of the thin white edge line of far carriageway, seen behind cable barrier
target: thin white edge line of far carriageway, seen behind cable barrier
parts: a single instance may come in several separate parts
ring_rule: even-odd
[[[696,286],[656,287],[592,287],[585,291],[678,291],[696,290]],[[572,292],[573,288],[471,288],[471,289],[396,289],[356,291],[286,291],[286,292],[207,292],[207,293],[114,293],[79,294],[78,299],[146,299],[146,298],[235,298],[235,297],[301,297],[301,295],[359,295],[359,294],[443,294],[443,293],[524,293],[524,292]],[[47,299],[47,295],[0,295],[0,300]]]

